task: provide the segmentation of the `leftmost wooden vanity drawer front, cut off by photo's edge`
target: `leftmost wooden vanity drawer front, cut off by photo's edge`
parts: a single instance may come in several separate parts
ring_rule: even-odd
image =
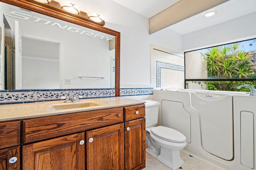
[[[0,123],[0,149],[20,145],[20,121]]]

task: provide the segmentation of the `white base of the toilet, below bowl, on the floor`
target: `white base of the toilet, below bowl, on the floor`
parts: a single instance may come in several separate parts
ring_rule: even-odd
[[[146,152],[172,170],[176,170],[184,164],[184,161],[180,158],[180,150],[172,150],[167,148],[162,149],[161,147],[160,152],[158,152],[148,147],[146,148]]]

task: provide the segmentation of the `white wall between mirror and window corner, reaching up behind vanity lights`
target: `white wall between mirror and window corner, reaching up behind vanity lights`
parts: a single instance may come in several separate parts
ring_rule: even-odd
[[[104,27],[121,33],[120,83],[150,86],[150,44],[182,52],[182,36],[170,29],[149,35],[148,18],[112,0],[77,1],[85,12],[97,11],[105,19]],[[82,8],[84,7],[84,8]]]

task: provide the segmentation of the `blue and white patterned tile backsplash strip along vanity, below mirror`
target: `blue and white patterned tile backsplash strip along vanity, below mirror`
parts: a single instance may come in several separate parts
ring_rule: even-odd
[[[121,88],[120,96],[153,94],[153,88]],[[0,104],[17,104],[60,100],[64,96],[88,98],[115,97],[115,89],[62,89],[62,90],[1,90]]]

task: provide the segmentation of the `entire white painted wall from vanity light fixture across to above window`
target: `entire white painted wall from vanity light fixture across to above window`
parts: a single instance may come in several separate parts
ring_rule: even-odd
[[[105,18],[104,27],[121,33],[120,83],[150,85],[150,44],[182,53],[256,35],[256,13],[179,35],[163,29],[149,35],[148,18],[112,0],[74,0],[82,11],[98,12]],[[67,87],[68,88],[68,87]]]

